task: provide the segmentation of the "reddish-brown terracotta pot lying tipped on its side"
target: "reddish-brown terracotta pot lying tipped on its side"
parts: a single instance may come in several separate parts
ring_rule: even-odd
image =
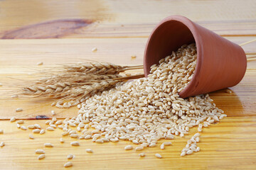
[[[144,52],[145,76],[152,64],[191,42],[197,47],[196,70],[179,93],[182,98],[235,86],[242,80],[247,67],[242,47],[183,16],[169,16],[152,31]]]

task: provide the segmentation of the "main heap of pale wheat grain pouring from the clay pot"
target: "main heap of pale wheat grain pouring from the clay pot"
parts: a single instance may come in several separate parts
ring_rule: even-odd
[[[63,121],[63,134],[74,136],[77,132],[70,127],[78,127],[82,135],[75,137],[80,139],[97,143],[129,140],[143,149],[155,147],[161,139],[172,140],[174,135],[183,137],[195,126],[201,132],[225,115],[208,94],[186,99],[178,96],[195,68],[196,45],[183,45],[159,65],[151,66],[148,77],[87,98],[78,105],[77,117]],[[95,130],[88,130],[88,123]],[[191,145],[193,140],[188,141],[182,156],[199,151],[196,144]]]

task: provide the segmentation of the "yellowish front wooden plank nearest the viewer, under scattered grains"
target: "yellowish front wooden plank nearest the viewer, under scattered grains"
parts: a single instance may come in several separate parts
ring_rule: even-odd
[[[46,128],[43,120],[26,120],[24,125],[39,123]],[[31,130],[20,130],[16,123],[1,120],[0,128],[4,134],[0,135],[6,146],[1,147],[0,164],[4,169],[63,169],[68,162],[68,154],[75,154],[72,159],[72,169],[255,169],[256,149],[256,117],[224,118],[217,125],[203,130],[201,152],[180,157],[181,149],[186,141],[196,132],[183,138],[171,140],[172,145],[161,150],[159,146],[165,140],[159,141],[157,147],[144,149],[146,157],[140,158],[139,152],[125,151],[124,146],[131,142],[117,142],[96,144],[91,140],[79,140],[80,147],[71,147],[70,137],[63,137],[65,143],[60,144],[61,130],[46,132],[44,135],[33,134],[34,140],[28,139]],[[53,148],[45,148],[43,144],[50,142]],[[132,144],[134,147],[136,145]],[[93,149],[88,154],[85,149]],[[36,149],[44,149],[46,158],[38,160]],[[163,159],[156,159],[159,153]]]

